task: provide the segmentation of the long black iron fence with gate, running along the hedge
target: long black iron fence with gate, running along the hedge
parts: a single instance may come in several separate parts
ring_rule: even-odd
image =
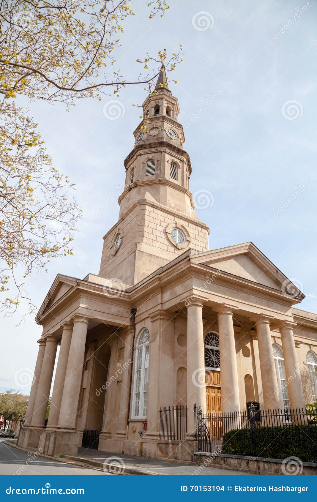
[[[251,407],[248,411],[203,414],[201,408],[195,405],[194,414],[195,436],[198,440],[198,451],[201,452],[231,453],[234,450],[232,445],[234,445],[235,451],[239,450],[239,454],[258,456],[260,445],[257,444],[259,441],[257,438],[261,438],[261,428],[262,432],[265,432],[264,441],[268,435],[272,437],[273,441],[276,436],[278,441],[278,435],[281,432],[289,432],[294,436],[294,433],[297,432],[294,428],[297,427],[297,430],[301,428],[303,441],[310,441],[311,448],[315,448],[317,415],[309,408],[305,410],[256,410]],[[267,429],[264,431],[264,428],[269,428],[269,431]],[[287,431],[285,428],[292,428],[292,430]],[[243,447],[241,444],[243,441],[246,444],[249,441],[249,450],[246,453],[243,452],[247,451],[248,448],[247,446]],[[239,442],[241,446],[239,446]]]

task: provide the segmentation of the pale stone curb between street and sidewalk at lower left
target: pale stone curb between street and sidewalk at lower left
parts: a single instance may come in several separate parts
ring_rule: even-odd
[[[18,446],[17,444],[14,444],[14,443],[11,443],[10,440],[5,441],[4,444],[7,444],[8,446],[11,446],[12,448],[16,448],[17,450],[25,451],[27,453],[32,453],[32,455],[34,455],[36,453],[36,451],[29,450],[27,448],[21,448],[21,446]],[[99,470],[102,472],[105,472],[104,466],[107,467],[106,470],[109,473],[112,473],[111,469],[113,468],[112,463],[107,463],[104,465],[104,462],[97,462],[96,460],[89,460],[89,459],[85,459],[82,457],[77,457],[74,459],[74,457],[71,455],[61,455],[60,457],[51,457],[49,455],[44,455],[44,453],[38,453],[37,457],[43,457],[43,458],[47,458],[49,460],[56,460],[57,462],[62,462],[64,464],[77,465],[78,467],[86,467],[86,468],[92,467],[93,469]],[[150,471],[147,471],[144,469],[139,470],[135,467],[127,467],[127,466],[125,466],[122,474],[130,474],[130,475],[137,475],[137,476],[142,476],[142,475],[162,476],[162,475],[164,475],[164,474],[157,474],[155,472],[150,472]],[[122,475],[122,474],[120,474],[120,475]]]

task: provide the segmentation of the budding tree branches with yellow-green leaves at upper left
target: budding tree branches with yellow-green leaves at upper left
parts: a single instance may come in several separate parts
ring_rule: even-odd
[[[149,18],[169,8],[148,0]],[[131,84],[149,91],[166,53],[137,61],[138,78],[114,71],[124,22],[134,16],[127,0],[3,0],[0,3],[0,302],[16,309],[28,299],[25,279],[42,273],[52,258],[72,254],[80,209],[74,188],[52,165],[37,124],[14,99],[25,95],[64,102],[101,95]],[[139,20],[141,25],[141,21]],[[180,49],[181,50],[181,49]],[[180,50],[167,63],[173,71]],[[152,66],[150,70],[149,67]],[[155,69],[154,69],[155,68]],[[2,266],[1,266],[2,264]],[[10,291],[10,293],[8,293]]]

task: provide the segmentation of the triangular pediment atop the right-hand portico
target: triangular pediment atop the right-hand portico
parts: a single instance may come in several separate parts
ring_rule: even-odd
[[[191,255],[190,261],[277,289],[285,296],[303,297],[301,291],[252,242]]]

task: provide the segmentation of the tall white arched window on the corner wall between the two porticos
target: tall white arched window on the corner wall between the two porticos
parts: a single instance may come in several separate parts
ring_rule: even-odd
[[[143,328],[137,339],[135,354],[133,418],[146,418],[149,378],[149,345],[149,330]]]

